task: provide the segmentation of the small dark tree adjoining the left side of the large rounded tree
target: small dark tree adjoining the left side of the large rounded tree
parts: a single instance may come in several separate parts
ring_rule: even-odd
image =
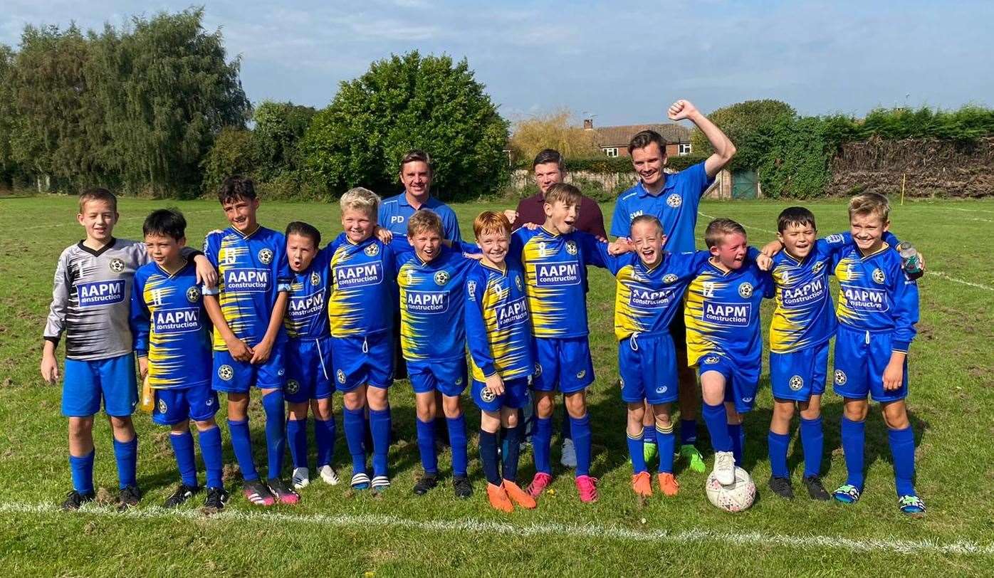
[[[251,134],[254,173],[259,180],[271,181],[281,173],[292,173],[299,168],[297,145],[316,113],[310,106],[292,102],[265,101],[255,107]]]

